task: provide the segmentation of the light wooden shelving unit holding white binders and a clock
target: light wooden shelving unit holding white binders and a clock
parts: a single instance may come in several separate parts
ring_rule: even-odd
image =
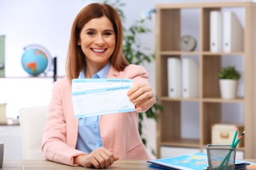
[[[231,53],[210,52],[209,14],[211,10],[240,8],[244,11],[244,51]],[[198,10],[199,30],[198,47],[193,52],[182,52],[178,48],[182,33],[181,10]],[[211,125],[222,122],[223,104],[242,105],[244,128],[244,146],[238,150],[244,152],[244,158],[256,158],[256,4],[251,2],[230,3],[171,3],[156,5],[156,76],[157,96],[164,111],[158,114],[157,157],[160,158],[161,146],[199,148],[203,150],[211,143]],[[196,56],[200,67],[200,96],[192,99],[169,98],[167,87],[167,58]],[[217,75],[221,71],[222,58],[238,56],[243,59],[243,94],[236,99],[221,99]],[[181,105],[183,102],[199,105],[199,137],[181,136]]]

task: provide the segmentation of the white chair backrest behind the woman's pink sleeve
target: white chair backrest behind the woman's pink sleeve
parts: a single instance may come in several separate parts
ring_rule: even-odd
[[[22,108],[19,113],[24,160],[45,160],[41,151],[48,106]]]

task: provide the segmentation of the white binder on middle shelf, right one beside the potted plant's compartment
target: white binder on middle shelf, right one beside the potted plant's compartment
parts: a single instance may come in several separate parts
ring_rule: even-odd
[[[199,68],[192,58],[183,58],[182,67],[182,97],[199,97]]]

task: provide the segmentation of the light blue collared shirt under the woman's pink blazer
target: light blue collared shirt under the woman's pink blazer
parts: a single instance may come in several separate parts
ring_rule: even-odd
[[[110,63],[108,63],[93,78],[106,78],[110,71]],[[85,68],[80,72],[78,78],[85,78]],[[100,137],[100,116],[89,116],[79,118],[78,137],[76,149],[90,154],[96,148],[102,147],[102,139]]]

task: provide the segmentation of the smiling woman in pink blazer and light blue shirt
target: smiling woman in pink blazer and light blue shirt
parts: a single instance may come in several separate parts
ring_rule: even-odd
[[[150,159],[138,131],[138,112],[156,101],[148,74],[129,65],[122,53],[123,28],[116,10],[92,3],[74,20],[66,59],[66,77],[54,83],[42,150],[47,160],[106,168],[118,159]],[[75,118],[73,78],[131,78],[127,92],[134,112]]]

